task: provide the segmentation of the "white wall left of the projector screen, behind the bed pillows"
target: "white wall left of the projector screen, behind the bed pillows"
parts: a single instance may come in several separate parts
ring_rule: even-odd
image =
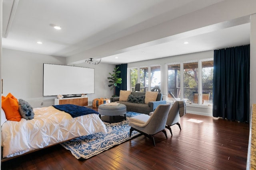
[[[64,57],[2,49],[3,94],[9,92],[32,107],[52,105],[53,97],[43,97],[43,63],[65,64]],[[44,105],[41,106],[41,102]]]

